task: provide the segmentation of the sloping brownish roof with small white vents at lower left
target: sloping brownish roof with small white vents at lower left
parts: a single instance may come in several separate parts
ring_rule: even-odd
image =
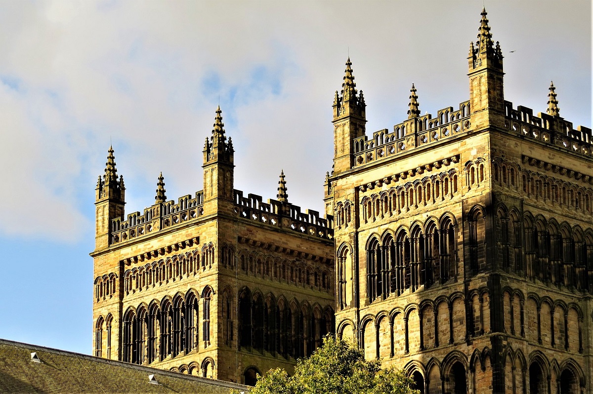
[[[36,352],[40,363],[31,361]],[[154,374],[158,385],[149,383]],[[249,387],[0,339],[0,393],[229,394]]]

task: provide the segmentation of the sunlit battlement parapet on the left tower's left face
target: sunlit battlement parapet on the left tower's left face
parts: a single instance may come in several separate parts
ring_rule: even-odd
[[[160,230],[173,228],[203,216],[203,191],[197,191],[196,197],[190,194],[179,197],[177,204],[171,201],[154,204],[145,208],[144,213],[133,212],[123,217],[117,217],[111,222],[111,242],[119,244],[129,239],[142,238]]]

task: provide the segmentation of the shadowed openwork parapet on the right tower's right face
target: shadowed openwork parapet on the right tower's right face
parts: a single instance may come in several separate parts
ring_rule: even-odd
[[[531,108],[505,101],[505,128],[531,139],[536,139],[561,149],[570,150],[589,158],[593,157],[593,134],[591,129],[579,126],[575,129],[572,122],[559,116],[538,113],[533,116]]]

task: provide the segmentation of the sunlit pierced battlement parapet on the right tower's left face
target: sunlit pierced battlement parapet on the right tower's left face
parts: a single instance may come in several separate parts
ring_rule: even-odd
[[[431,114],[417,116],[388,129],[373,133],[372,140],[368,136],[354,140],[354,166],[362,166],[371,162],[381,161],[393,156],[403,155],[417,148],[424,148],[438,141],[470,130],[470,102],[464,101],[459,110],[453,107],[437,111],[436,118]]]

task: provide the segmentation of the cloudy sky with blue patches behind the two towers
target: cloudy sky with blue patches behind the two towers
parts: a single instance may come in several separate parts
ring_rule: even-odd
[[[220,102],[235,188],[323,210],[349,53],[367,130],[468,99],[481,1],[0,2],[0,337],[90,353],[94,187],[113,142],[126,212],[202,189]],[[505,98],[591,127],[591,2],[486,1]],[[515,51],[515,52],[511,52]]]

